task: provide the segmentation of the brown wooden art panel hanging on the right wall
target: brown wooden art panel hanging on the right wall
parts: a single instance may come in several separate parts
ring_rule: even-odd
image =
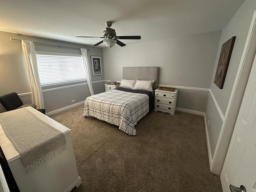
[[[224,81],[225,81],[227,70],[228,70],[228,64],[230,61],[235,39],[236,39],[235,36],[230,38],[227,42],[225,42],[222,45],[222,48],[220,51],[220,58],[219,58],[218,67],[217,67],[215,78],[214,78],[214,83],[220,89],[222,89],[224,85]]]

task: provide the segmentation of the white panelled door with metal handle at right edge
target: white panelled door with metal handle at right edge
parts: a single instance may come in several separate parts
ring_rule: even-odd
[[[229,185],[244,185],[256,192],[256,58],[252,65],[244,98],[220,174],[223,192]]]

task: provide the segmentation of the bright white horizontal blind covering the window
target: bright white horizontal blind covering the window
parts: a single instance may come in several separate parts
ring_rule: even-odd
[[[82,56],[36,54],[41,85],[86,80]]]

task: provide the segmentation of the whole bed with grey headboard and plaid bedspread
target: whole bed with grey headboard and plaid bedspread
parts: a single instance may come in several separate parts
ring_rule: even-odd
[[[135,81],[136,89],[124,86],[87,97],[84,101],[84,116],[93,116],[119,126],[128,135],[136,135],[135,126],[138,121],[154,110],[158,70],[158,67],[124,67],[121,85],[124,80]],[[138,89],[141,88],[137,86],[139,83],[149,81],[152,81],[151,90]]]

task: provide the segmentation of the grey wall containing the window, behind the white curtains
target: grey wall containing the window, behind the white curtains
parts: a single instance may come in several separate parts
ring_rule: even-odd
[[[90,49],[90,51],[88,51],[89,62],[90,56],[102,57],[101,48],[85,46],[80,44],[72,44],[67,42],[60,42],[43,38],[29,37],[20,34],[13,34],[0,31],[0,95],[8,94],[10,92],[16,92],[18,94],[21,94],[20,98],[24,103],[31,102],[31,95],[23,95],[24,93],[30,92],[30,86],[26,75],[22,48],[20,41],[10,41],[10,37],[14,39],[31,40],[33,42],[40,42],[45,44],[71,46],[76,48],[87,48]],[[81,51],[79,49],[61,47],[59,48],[56,46],[46,46],[40,44],[35,44],[35,49],[36,51],[81,54]],[[104,74],[103,58],[102,68]],[[93,84],[94,93],[104,91],[104,75],[92,76],[92,81],[98,82]],[[53,110],[58,110],[59,108],[64,108],[66,106],[82,102],[89,95],[90,94],[88,92],[87,85],[43,92],[46,112],[51,112]],[[75,102],[72,103],[71,100],[75,100]],[[3,111],[5,110],[3,106],[0,104],[0,112]]]

